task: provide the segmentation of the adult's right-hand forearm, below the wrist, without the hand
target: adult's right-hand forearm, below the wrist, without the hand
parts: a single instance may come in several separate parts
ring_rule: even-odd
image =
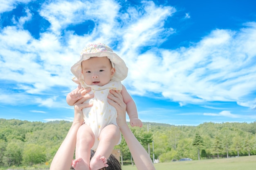
[[[155,167],[150,159],[148,153],[139,143],[137,138],[133,135],[132,131],[128,125],[123,125],[120,128],[121,133],[126,140],[130,152],[132,154],[133,160],[138,170],[155,170]]]

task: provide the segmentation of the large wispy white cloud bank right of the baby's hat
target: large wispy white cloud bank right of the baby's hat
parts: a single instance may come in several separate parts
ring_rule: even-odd
[[[182,104],[252,100],[245,96],[256,87],[256,44],[251,38],[256,23],[247,26],[236,32],[214,30],[189,48],[135,55],[129,72],[133,93],[162,93]]]

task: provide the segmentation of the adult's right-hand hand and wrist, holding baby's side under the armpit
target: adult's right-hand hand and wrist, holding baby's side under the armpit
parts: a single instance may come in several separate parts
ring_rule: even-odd
[[[119,127],[127,125],[126,123],[126,104],[120,91],[110,90],[108,103],[117,109],[117,125]]]

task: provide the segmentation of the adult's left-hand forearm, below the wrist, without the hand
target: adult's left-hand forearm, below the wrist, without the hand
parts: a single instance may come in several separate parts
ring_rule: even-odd
[[[81,126],[80,122],[74,122],[67,133],[63,143],[52,160],[50,170],[69,170],[76,146],[76,132]]]

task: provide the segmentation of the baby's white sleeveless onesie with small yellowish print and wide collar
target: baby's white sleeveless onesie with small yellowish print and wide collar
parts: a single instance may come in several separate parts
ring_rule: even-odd
[[[114,106],[108,103],[108,93],[110,89],[120,90],[122,89],[121,81],[119,82],[109,82],[104,86],[97,85],[86,85],[86,87],[91,87],[94,93],[94,97],[86,100],[84,103],[92,103],[92,107],[83,108],[83,118],[85,124],[90,126],[92,132],[94,133],[95,141],[92,146],[92,150],[96,150],[99,145],[99,135],[101,130],[109,124],[114,124],[117,126],[117,110]],[[121,132],[118,144],[121,143]],[[118,145],[117,144],[117,145]]]

